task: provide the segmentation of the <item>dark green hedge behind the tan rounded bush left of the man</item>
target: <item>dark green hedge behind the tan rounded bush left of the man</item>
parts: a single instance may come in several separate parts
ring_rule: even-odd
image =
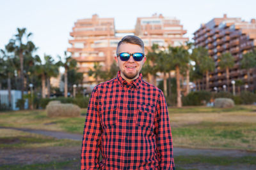
[[[76,104],[80,108],[87,108],[89,103],[89,97],[77,97],[77,98],[56,97],[52,99],[48,99],[48,98],[40,99],[40,107],[45,108],[50,101],[60,101],[61,103],[72,103],[72,104]]]

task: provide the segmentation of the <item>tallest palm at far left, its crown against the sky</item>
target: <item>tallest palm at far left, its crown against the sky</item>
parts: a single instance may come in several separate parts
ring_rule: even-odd
[[[6,49],[8,52],[13,52],[15,56],[19,57],[20,60],[20,80],[21,80],[21,94],[23,97],[24,93],[24,55],[28,55],[36,50],[36,47],[32,41],[28,41],[29,37],[32,35],[31,32],[26,34],[26,28],[17,29],[17,34],[15,39],[10,39]],[[22,39],[26,36],[27,42],[23,43]]]

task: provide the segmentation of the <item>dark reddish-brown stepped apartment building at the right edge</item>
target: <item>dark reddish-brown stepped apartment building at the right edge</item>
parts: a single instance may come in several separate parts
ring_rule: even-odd
[[[230,80],[243,80],[249,90],[256,89],[256,70],[250,70],[250,80],[247,76],[247,71],[240,69],[240,60],[243,54],[252,50],[256,45],[256,22],[252,19],[250,22],[245,22],[241,18],[228,18],[223,15],[223,18],[213,18],[207,24],[202,24],[201,27],[194,33],[195,46],[204,46],[208,49],[209,55],[215,61],[215,71],[210,73],[209,87],[211,90],[217,87],[219,90],[224,90],[227,85],[226,72],[221,70],[218,62],[221,54],[230,52],[235,60],[235,66],[230,69]],[[200,83],[205,89],[205,78]],[[243,87],[243,88],[244,88]],[[229,88],[232,90],[232,88]]]

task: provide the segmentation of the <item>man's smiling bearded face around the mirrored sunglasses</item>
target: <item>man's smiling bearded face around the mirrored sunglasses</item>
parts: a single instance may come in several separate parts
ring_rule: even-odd
[[[131,43],[123,43],[118,48],[118,53],[127,52],[127,53],[143,53],[143,49],[141,49],[140,45],[134,45]],[[146,56],[143,57],[141,61],[135,61],[131,56],[129,60],[122,61],[120,57],[115,56],[115,60],[118,64],[118,67],[121,72],[122,78],[124,80],[130,82],[139,77],[141,68],[146,61]]]

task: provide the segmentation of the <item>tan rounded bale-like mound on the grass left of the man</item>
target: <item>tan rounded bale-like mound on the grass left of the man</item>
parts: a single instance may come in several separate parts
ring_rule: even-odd
[[[47,105],[48,117],[79,117],[81,110],[76,104],[49,104]]]

